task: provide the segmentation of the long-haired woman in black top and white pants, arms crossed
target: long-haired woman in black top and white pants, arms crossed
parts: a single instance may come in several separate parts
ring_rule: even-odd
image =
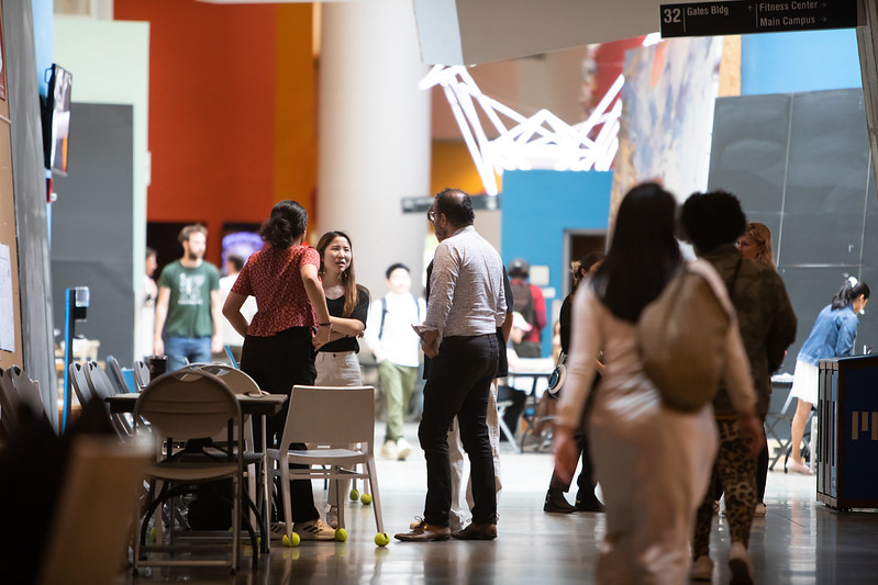
[[[354,252],[351,238],[344,232],[326,232],[318,241],[320,254],[320,278],[330,310],[330,342],[318,350],[314,365],[318,376],[315,386],[362,386],[359,370],[359,344],[366,329],[369,312],[369,291],[356,283]],[[349,482],[338,486],[338,496],[344,502]],[[330,486],[326,505],[326,524],[338,528],[338,505],[335,485]]]

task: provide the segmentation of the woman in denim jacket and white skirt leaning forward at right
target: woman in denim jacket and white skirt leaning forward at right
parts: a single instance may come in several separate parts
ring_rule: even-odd
[[[790,425],[792,437],[792,461],[788,471],[811,475],[802,463],[802,435],[808,415],[818,398],[818,362],[830,358],[851,356],[857,336],[857,315],[869,301],[869,286],[851,277],[818,315],[814,327],[796,358],[796,374],[790,394],[799,400]]]

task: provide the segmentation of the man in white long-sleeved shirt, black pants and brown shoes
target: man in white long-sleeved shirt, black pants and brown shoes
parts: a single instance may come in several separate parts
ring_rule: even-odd
[[[438,193],[427,213],[440,245],[430,278],[421,347],[430,357],[424,409],[418,438],[426,460],[423,519],[404,541],[491,540],[497,538],[497,494],[486,423],[488,396],[502,348],[497,328],[505,319],[503,262],[473,227],[469,195],[457,189]],[[448,428],[457,416],[464,449],[473,462],[473,524],[451,533],[452,502]]]

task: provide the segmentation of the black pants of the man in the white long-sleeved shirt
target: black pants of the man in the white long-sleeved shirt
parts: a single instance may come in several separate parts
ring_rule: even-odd
[[[426,460],[424,520],[448,526],[452,507],[452,470],[448,429],[454,417],[460,442],[469,455],[473,479],[473,521],[497,522],[497,493],[491,443],[488,439],[488,397],[497,370],[499,347],[493,333],[475,337],[446,337],[430,362],[424,385],[424,412],[418,438]]]

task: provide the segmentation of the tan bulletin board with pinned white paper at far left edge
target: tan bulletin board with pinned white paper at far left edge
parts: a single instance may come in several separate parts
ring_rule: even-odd
[[[0,79],[5,80],[0,14]],[[22,365],[19,249],[15,230],[15,196],[12,187],[12,128],[5,83],[0,91],[0,368]]]

